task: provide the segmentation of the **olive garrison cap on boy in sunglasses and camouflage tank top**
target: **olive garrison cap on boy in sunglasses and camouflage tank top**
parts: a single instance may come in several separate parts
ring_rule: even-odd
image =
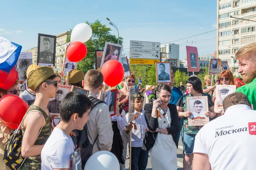
[[[51,67],[42,66],[32,70],[29,73],[27,85],[32,91],[35,91],[38,86],[44,82],[46,79],[54,75],[54,71]]]

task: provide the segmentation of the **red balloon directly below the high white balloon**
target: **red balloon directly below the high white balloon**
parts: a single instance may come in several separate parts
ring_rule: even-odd
[[[67,59],[70,62],[79,62],[87,54],[87,48],[82,42],[73,42],[67,48]]]

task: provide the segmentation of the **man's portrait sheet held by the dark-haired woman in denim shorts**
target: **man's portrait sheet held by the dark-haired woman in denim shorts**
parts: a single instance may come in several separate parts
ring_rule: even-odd
[[[188,111],[192,113],[188,117],[189,126],[203,126],[209,122],[205,112],[209,111],[207,96],[187,97]]]

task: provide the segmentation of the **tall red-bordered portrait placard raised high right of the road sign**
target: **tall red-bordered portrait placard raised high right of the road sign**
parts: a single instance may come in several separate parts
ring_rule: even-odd
[[[188,72],[199,71],[199,60],[197,47],[186,46]]]

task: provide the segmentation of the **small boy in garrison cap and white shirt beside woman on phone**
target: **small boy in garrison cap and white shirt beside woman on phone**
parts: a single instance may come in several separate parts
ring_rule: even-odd
[[[144,97],[139,92],[135,92],[135,117],[134,128],[127,126],[125,132],[131,134],[131,170],[145,170],[148,164],[148,151],[142,149],[143,139],[145,137],[145,130],[147,128],[147,123],[145,120],[144,110],[143,110]],[[128,114],[125,116],[128,122]],[[137,128],[136,128],[136,127]],[[136,130],[135,130],[136,129]],[[128,143],[130,146],[130,142]]]

